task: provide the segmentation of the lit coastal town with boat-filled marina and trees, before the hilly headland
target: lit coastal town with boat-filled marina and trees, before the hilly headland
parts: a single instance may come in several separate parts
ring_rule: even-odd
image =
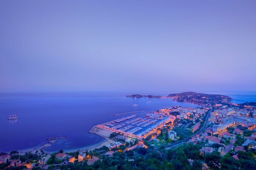
[[[137,96],[138,97],[138,96]],[[204,98],[205,99],[205,98]],[[226,98],[224,101],[227,101]],[[227,105],[225,105],[225,103]],[[169,169],[186,165],[191,169],[255,169],[256,105],[254,102],[235,104],[210,101],[197,108],[174,106],[151,113],[132,114],[92,127],[90,133],[105,137],[108,145],[93,150],[68,153],[60,150],[45,153],[1,153],[0,169],[85,169],[106,168],[106,162],[117,169],[120,161],[126,169],[140,167],[137,161],[147,156],[167,157]],[[183,150],[179,153],[177,150]],[[176,153],[178,152],[178,153]],[[155,156],[152,156],[155,155]],[[174,155],[183,155],[184,162]],[[176,163],[175,163],[176,162]]]

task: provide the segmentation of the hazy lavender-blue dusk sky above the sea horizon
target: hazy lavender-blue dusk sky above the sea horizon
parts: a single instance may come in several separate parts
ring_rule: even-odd
[[[255,0],[0,0],[0,92],[256,91]]]

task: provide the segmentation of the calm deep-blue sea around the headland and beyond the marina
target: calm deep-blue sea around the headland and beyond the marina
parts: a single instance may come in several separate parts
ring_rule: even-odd
[[[217,93],[214,93],[217,94]],[[218,93],[234,99],[233,102],[256,102],[256,93]],[[105,139],[87,133],[91,127],[131,114],[115,113],[145,111],[149,113],[175,105],[197,107],[172,99],[129,98],[129,94],[113,93],[44,93],[0,94],[0,152],[28,150],[47,143],[47,138],[59,139],[46,151],[78,150],[103,142]],[[155,94],[153,94],[155,95]],[[159,94],[167,96],[167,94]],[[133,106],[137,104],[138,106]],[[19,119],[7,120],[9,114]],[[144,113],[135,113],[144,114]]]

